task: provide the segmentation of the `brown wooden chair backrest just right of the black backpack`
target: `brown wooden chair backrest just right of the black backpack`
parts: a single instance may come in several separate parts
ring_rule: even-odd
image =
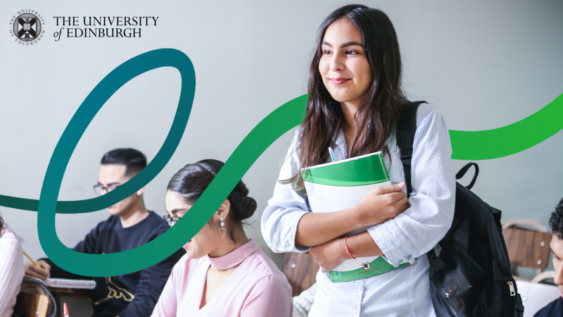
[[[543,270],[548,267],[551,233],[507,228],[502,230],[502,235],[512,268],[526,266]]]

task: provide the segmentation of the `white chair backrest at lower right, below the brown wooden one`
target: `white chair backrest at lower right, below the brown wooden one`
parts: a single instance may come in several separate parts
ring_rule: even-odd
[[[554,285],[532,283],[525,280],[517,280],[516,285],[524,304],[524,317],[532,317],[540,309],[561,296],[561,291]]]

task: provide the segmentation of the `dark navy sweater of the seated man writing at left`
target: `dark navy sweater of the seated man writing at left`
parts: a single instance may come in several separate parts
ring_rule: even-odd
[[[120,216],[110,216],[96,225],[74,250],[87,254],[107,254],[134,249],[155,239],[168,228],[170,226],[166,221],[152,211],[129,228],[122,227]],[[92,317],[151,316],[172,267],[185,253],[184,249],[179,249],[164,261],[138,272],[94,278],[96,289],[92,292]],[[51,266],[51,278],[92,279],[69,273],[49,259],[44,260]]]

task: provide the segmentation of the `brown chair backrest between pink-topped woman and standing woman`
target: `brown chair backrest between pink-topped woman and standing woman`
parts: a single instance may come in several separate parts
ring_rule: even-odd
[[[293,289],[293,296],[301,294],[315,282],[319,266],[312,261],[312,255],[308,253],[286,253],[284,256],[283,272]]]

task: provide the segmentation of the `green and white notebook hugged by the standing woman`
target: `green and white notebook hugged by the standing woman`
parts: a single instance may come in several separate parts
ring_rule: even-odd
[[[302,168],[307,197],[312,212],[329,213],[348,209],[377,187],[391,185],[381,151],[351,159]],[[348,232],[347,236],[364,232],[368,227]],[[403,263],[403,268],[409,263]],[[329,275],[333,282],[347,282],[379,275],[396,268],[382,256],[349,259]]]

